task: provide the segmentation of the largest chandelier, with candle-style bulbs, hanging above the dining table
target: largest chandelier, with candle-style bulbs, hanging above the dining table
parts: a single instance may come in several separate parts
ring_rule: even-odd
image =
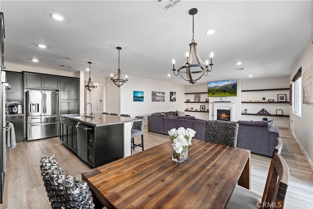
[[[208,72],[212,70],[212,66],[214,65],[212,63],[213,51],[210,54],[210,59],[211,59],[210,64],[209,64],[209,61],[207,60],[205,61],[205,63],[203,63],[197,52],[197,43],[194,40],[194,26],[195,26],[194,15],[197,13],[198,13],[198,9],[196,8],[192,8],[189,10],[189,14],[192,15],[192,40],[191,40],[191,43],[189,44],[190,46],[189,53],[188,51],[186,52],[187,59],[184,62],[184,64],[177,70],[177,74],[176,74],[176,69],[175,69],[175,60],[173,59],[172,61],[174,75],[180,75],[184,80],[192,84],[197,83],[197,81],[199,81],[203,76],[207,76]],[[198,64],[192,64],[194,54],[195,54]],[[209,69],[209,66],[211,66],[210,69]],[[200,67],[201,70],[200,69],[192,70],[193,67]],[[198,75],[198,78],[194,78],[197,75]]]

